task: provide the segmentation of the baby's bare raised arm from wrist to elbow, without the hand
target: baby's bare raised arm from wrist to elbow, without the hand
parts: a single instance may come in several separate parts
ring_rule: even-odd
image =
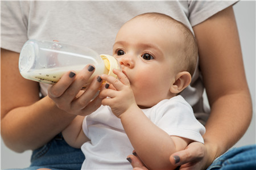
[[[191,140],[168,135],[140,111],[130,109],[121,116],[123,128],[137,155],[148,169],[175,169],[170,163],[170,155],[185,149]]]

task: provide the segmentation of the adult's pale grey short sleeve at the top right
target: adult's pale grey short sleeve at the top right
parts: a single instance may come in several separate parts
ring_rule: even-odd
[[[188,19],[193,27],[236,2],[237,1],[189,1]]]

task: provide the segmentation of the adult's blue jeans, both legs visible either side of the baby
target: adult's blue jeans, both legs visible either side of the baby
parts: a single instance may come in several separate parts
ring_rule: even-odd
[[[80,149],[70,147],[62,135],[57,135],[47,145],[33,151],[31,165],[24,169],[50,168],[52,170],[81,169],[84,154]],[[220,156],[207,170],[255,170],[256,145],[232,148]]]

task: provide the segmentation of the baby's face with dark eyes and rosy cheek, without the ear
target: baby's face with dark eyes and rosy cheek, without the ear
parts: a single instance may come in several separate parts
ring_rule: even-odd
[[[152,107],[174,94],[175,56],[179,54],[177,28],[154,19],[135,18],[123,25],[113,45],[113,56],[130,80],[136,102]]]

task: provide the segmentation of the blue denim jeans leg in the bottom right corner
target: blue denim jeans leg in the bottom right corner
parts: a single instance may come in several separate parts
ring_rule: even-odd
[[[232,148],[214,160],[207,170],[255,170],[256,145]]]

